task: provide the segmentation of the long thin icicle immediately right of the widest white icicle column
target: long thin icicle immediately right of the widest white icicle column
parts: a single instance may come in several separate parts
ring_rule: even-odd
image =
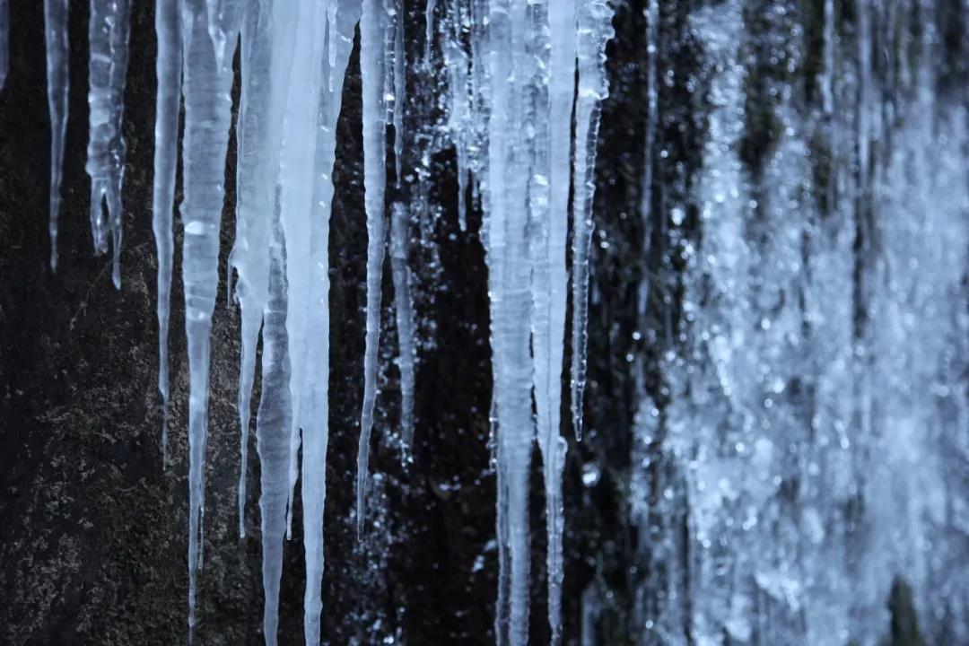
[[[380,348],[381,278],[384,274],[384,192],[386,150],[384,103],[383,0],[363,0],[360,18],[360,77],[363,81],[363,191],[366,211],[366,348],[363,354],[363,410],[357,452],[357,538],[363,538],[364,498],[370,456],[370,432],[377,400],[377,351]]]

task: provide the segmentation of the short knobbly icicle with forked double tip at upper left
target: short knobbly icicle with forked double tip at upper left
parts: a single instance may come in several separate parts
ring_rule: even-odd
[[[121,183],[125,143],[121,135],[125,75],[128,72],[128,27],[131,0],[91,0],[88,23],[90,132],[87,174],[91,176],[91,233],[94,249],[108,251],[108,232],[114,251],[111,278],[121,287]],[[105,222],[104,206],[108,206]]]

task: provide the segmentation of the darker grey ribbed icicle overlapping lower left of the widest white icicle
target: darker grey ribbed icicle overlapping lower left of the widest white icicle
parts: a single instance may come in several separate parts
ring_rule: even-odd
[[[278,3],[277,3],[278,4]],[[264,214],[266,220],[269,214]],[[256,420],[259,450],[259,498],[263,535],[263,634],[275,646],[279,626],[279,580],[283,573],[283,537],[289,495],[290,360],[286,338],[286,251],[278,216],[272,227],[268,298],[263,328],[263,385]]]

